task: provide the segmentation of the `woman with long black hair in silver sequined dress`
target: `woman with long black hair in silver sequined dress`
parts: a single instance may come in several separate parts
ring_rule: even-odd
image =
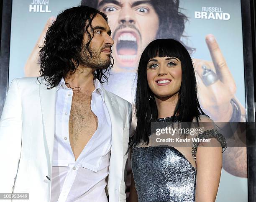
[[[137,126],[130,142],[130,201],[215,201],[225,138],[214,130],[213,121],[199,105],[193,63],[181,43],[158,39],[143,51],[135,107]],[[169,137],[190,142],[159,143],[156,139],[161,136],[151,133],[152,122],[174,122],[172,128],[184,122],[196,123],[202,130],[197,137],[209,142],[193,142],[192,138],[197,137],[191,133],[174,133]]]

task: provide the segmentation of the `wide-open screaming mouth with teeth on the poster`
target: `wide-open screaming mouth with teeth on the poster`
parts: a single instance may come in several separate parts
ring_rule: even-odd
[[[123,32],[118,36],[116,53],[120,64],[134,66],[137,61],[138,43],[134,33]]]

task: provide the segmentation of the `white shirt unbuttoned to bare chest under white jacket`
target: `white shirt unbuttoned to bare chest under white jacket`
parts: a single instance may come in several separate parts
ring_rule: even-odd
[[[108,202],[105,187],[109,174],[111,122],[99,80],[94,80],[94,86],[91,110],[97,116],[98,127],[77,161],[69,142],[73,91],[63,78],[57,86],[51,202]]]

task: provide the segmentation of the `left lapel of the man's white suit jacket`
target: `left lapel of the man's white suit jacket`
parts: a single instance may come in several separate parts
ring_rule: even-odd
[[[40,82],[41,84],[39,84],[39,96],[43,117],[44,135],[46,137],[51,163],[54,147],[55,102],[57,88],[47,89],[47,87],[49,87],[46,85],[47,82],[44,79],[41,79]]]

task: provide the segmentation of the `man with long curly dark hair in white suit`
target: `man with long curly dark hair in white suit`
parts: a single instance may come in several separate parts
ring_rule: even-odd
[[[131,104],[102,87],[113,66],[107,20],[87,6],[64,10],[40,50],[41,77],[13,80],[0,121],[1,193],[107,202],[107,188],[111,202],[125,201]]]

